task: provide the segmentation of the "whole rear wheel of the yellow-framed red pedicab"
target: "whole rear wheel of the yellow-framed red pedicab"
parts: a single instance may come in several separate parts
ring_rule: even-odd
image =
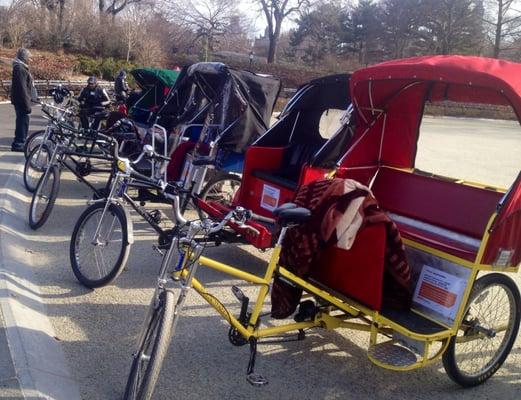
[[[504,274],[484,275],[475,282],[458,334],[443,355],[453,381],[476,386],[501,367],[516,340],[520,303],[515,282]]]

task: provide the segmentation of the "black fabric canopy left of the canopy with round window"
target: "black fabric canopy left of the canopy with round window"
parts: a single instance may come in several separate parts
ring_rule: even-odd
[[[183,69],[161,115],[176,124],[210,118],[218,126],[219,147],[243,153],[268,129],[280,89],[273,76],[197,63]]]

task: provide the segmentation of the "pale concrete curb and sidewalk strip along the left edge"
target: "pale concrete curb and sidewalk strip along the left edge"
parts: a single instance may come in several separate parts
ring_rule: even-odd
[[[12,107],[0,106],[0,398],[79,399],[46,307],[35,284],[27,251],[25,202],[21,185],[24,157],[10,151]],[[31,130],[45,120],[35,110]]]

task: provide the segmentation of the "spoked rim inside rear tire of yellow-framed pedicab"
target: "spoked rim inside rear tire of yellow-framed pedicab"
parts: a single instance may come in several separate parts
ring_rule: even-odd
[[[503,284],[486,287],[472,299],[465,315],[466,329],[456,337],[454,356],[458,370],[468,378],[479,377],[495,368],[510,343],[516,320],[516,301]],[[473,326],[494,330],[487,337]]]

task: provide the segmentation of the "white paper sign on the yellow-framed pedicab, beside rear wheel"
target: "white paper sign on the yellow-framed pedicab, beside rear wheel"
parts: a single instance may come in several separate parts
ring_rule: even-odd
[[[443,322],[452,323],[458,312],[466,279],[459,278],[440,269],[423,265],[413,302],[442,317]]]

